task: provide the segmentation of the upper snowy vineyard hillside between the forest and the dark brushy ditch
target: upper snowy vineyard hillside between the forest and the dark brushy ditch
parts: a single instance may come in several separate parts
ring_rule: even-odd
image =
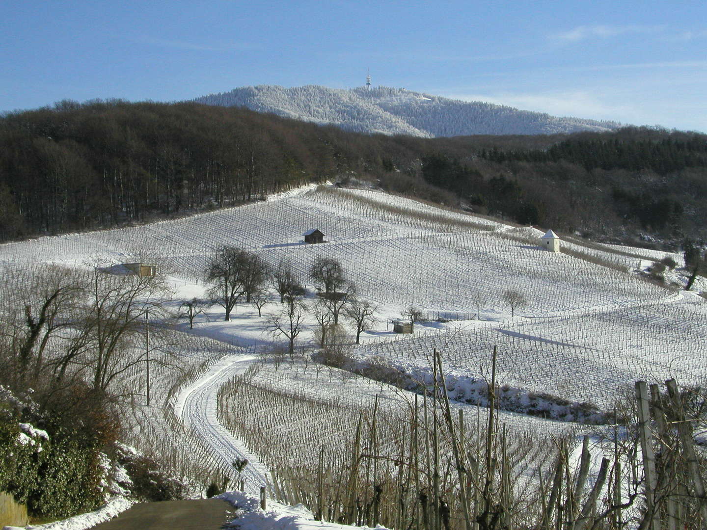
[[[701,299],[518,242],[532,242],[542,232],[369,190],[308,187],[273,199],[135,228],[10,243],[0,246],[0,259],[156,261],[175,285],[176,304],[204,295],[206,262],[222,245],[255,250],[273,266],[288,259],[310,293],[310,265],[332,257],[359,298],[379,307],[378,325],[364,332],[359,356],[385,355],[417,370],[438,348],[455,375],[479,377],[489,348],[498,344],[508,384],[602,406],[617,385],[633,379],[696,382],[703,375]],[[312,228],[322,230],[327,243],[305,245],[302,234]],[[607,251],[594,255],[610,254],[608,245],[602,248]],[[503,298],[508,289],[527,300],[513,318]],[[485,300],[477,307],[479,296]],[[430,322],[418,325],[414,336],[395,336],[389,321],[410,305],[464,322]],[[479,321],[469,321],[477,309]],[[264,315],[276,310],[268,305]],[[267,317],[255,316],[251,307],[237,307],[230,322],[218,314],[214,306],[198,317],[194,333],[235,346],[273,341]],[[305,326],[300,344],[308,343],[314,328],[311,321]]]

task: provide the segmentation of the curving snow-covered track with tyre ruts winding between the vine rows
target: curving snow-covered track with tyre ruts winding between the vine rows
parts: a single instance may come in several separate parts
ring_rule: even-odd
[[[245,480],[247,493],[259,493],[261,485],[267,485],[269,471],[257,457],[245,447],[245,444],[233,437],[221,423],[216,414],[216,394],[221,384],[237,374],[242,374],[255,360],[255,355],[226,355],[189,387],[183,389],[175,403],[175,413],[182,419],[185,427],[194,436],[201,437],[214,451],[214,457],[221,461],[226,469],[233,469],[231,463],[236,459],[247,459],[241,478]],[[233,471],[235,480],[237,473]]]

